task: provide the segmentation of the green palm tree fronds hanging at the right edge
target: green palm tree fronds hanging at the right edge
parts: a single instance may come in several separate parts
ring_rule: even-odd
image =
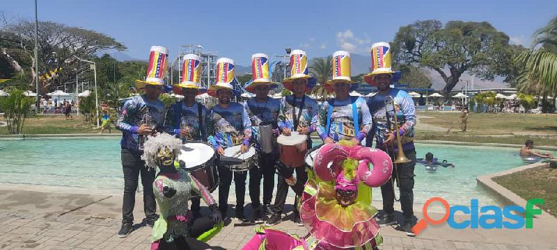
[[[557,17],[534,33],[532,48],[517,57],[524,72],[517,78],[522,92],[557,94]]]

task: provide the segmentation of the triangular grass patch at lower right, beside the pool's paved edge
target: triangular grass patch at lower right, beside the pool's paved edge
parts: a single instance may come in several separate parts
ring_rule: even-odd
[[[557,216],[557,169],[535,167],[514,174],[493,178],[506,189],[529,199],[542,198],[543,205],[538,205],[547,213]]]

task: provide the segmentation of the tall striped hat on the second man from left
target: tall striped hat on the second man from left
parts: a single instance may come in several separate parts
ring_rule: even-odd
[[[207,91],[201,88],[201,57],[194,54],[187,54],[182,64],[182,75],[180,83],[173,85],[175,94],[182,94],[182,88],[192,88],[199,90],[200,94]]]

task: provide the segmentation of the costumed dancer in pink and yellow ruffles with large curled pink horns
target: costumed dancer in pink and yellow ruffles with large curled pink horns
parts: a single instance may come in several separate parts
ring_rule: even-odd
[[[258,226],[244,250],[377,249],[383,240],[370,187],[389,180],[391,158],[383,151],[343,141],[325,144],[314,160],[314,170],[316,178],[306,183],[300,206],[308,235],[301,238]]]

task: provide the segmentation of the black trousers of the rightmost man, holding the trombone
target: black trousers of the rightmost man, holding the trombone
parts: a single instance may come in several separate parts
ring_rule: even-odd
[[[386,215],[390,215],[394,212],[395,203],[395,193],[393,192],[393,183],[391,182],[396,178],[398,173],[398,179],[400,180],[399,190],[400,190],[400,206],[402,208],[402,215],[406,220],[412,218],[414,215],[414,210],[412,206],[414,204],[414,166],[416,165],[416,151],[406,151],[406,157],[411,160],[409,163],[398,163],[395,168],[393,166],[393,176],[391,180],[387,181],[381,186],[381,194],[383,197],[383,211]]]

